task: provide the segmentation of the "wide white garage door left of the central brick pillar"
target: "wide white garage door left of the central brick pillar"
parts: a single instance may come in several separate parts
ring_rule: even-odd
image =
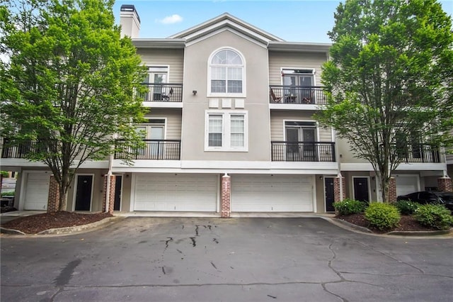
[[[134,211],[217,211],[217,174],[137,174]]]

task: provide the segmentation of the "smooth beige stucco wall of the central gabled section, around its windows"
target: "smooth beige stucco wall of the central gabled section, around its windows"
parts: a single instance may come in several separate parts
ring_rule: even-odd
[[[241,52],[246,64],[244,108],[226,108],[228,111],[248,113],[248,150],[244,152],[205,151],[205,112],[223,110],[222,103],[209,106],[207,91],[208,60],[210,55],[221,47],[232,47]],[[183,129],[188,138],[182,142],[182,160],[214,161],[268,161],[270,160],[269,141],[269,96],[268,96],[268,50],[256,43],[225,30],[198,43],[189,45],[185,50],[185,78],[183,88]],[[192,91],[196,90],[194,96]],[[233,98],[235,99],[235,98]],[[234,101],[236,102],[236,101]],[[259,135],[256,135],[259,133]]]

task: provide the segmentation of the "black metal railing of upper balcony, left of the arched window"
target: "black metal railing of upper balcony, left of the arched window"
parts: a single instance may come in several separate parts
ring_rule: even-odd
[[[147,92],[144,101],[182,102],[183,84],[176,83],[144,83]]]

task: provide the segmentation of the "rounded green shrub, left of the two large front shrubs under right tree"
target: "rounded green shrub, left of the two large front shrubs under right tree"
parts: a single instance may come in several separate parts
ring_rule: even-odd
[[[373,228],[386,230],[396,227],[401,215],[398,208],[390,203],[371,203],[365,210],[365,218]]]

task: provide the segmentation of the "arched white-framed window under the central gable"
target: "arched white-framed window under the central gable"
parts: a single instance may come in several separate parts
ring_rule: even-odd
[[[219,50],[210,57],[210,92],[212,95],[243,94],[244,65],[238,52]]]

